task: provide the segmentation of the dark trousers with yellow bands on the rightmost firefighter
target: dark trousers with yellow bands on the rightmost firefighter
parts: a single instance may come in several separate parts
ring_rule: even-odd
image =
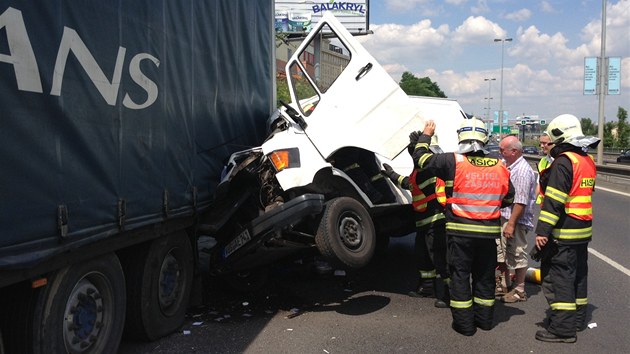
[[[547,330],[558,336],[575,336],[586,321],[588,243],[559,244],[557,253],[541,260],[540,271],[551,308]]]

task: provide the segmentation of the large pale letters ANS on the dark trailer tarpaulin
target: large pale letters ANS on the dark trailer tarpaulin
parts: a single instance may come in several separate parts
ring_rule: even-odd
[[[12,7],[5,10],[0,15],[0,29],[2,28],[6,28],[10,54],[0,53],[0,62],[13,65],[18,90],[43,93],[37,59],[26,31],[22,12]],[[61,96],[66,62],[70,52],[72,52],[105,102],[114,106],[120,91],[120,78],[122,77],[126,51],[127,49],[124,47],[118,48],[116,66],[112,79],[109,80],[79,34],[72,28],[64,27],[55,61],[50,94]],[[147,108],[155,103],[158,97],[158,86],[140,69],[140,62],[145,59],[150,60],[156,67],[160,66],[159,59],[148,53],[140,53],[131,58],[129,75],[138,86],[145,90],[147,98],[144,102],[136,103],[126,93],[122,104],[129,109]]]

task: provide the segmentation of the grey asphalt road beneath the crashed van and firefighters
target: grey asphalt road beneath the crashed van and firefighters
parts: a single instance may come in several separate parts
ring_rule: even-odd
[[[202,305],[191,308],[180,331],[151,343],[124,341],[120,353],[629,353],[630,194],[600,187],[589,253],[593,328],[579,333],[577,343],[534,339],[548,308],[534,283],[527,283],[527,302],[496,303],[491,331],[457,334],[448,309],[406,295],[415,279],[414,240],[407,236],[345,275],[318,274],[306,258],[277,265],[257,292],[205,284]]]

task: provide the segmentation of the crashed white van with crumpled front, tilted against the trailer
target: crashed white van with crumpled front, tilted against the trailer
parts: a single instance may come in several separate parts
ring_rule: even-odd
[[[205,220],[211,267],[242,271],[317,248],[360,268],[389,237],[413,232],[410,195],[380,174],[412,170],[409,133],[437,122],[454,151],[465,118],[454,100],[410,97],[330,14],[286,66],[283,103],[262,146],[235,153],[218,188],[221,212]]]

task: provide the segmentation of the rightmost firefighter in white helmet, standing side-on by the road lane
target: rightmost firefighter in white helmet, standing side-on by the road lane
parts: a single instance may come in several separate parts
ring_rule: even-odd
[[[588,243],[593,236],[591,196],[596,168],[587,154],[600,140],[585,137],[577,117],[554,118],[546,133],[554,147],[551,166],[540,176],[544,191],[536,225],[542,289],[551,308],[547,329],[536,332],[544,342],[574,343],[584,329],[587,305]]]

